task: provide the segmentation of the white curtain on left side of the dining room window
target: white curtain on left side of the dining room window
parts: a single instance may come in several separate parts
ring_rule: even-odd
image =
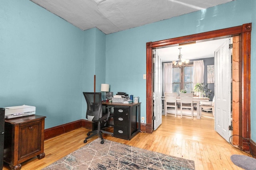
[[[172,63],[164,63],[164,92],[172,93]]]

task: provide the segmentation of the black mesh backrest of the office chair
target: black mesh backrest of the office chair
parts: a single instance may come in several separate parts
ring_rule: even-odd
[[[87,104],[86,119],[98,121],[102,117],[101,92],[83,92]]]

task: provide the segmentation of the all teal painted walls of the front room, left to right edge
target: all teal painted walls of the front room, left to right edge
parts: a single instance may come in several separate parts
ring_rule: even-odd
[[[256,2],[236,0],[105,35],[81,31],[29,0],[0,1],[0,106],[32,105],[46,129],[84,119],[83,91],[101,83],[140,97],[146,117],[146,42],[252,22],[251,128],[256,141]],[[68,107],[67,107],[68,106]]]

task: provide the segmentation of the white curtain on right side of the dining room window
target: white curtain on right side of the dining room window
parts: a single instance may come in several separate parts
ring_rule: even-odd
[[[197,83],[203,83],[204,82],[204,61],[199,60],[199,61],[194,61],[193,63],[193,73],[194,73],[194,86]]]

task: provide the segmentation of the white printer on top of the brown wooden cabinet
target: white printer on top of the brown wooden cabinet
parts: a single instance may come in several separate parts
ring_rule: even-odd
[[[36,114],[36,107],[35,106],[11,106],[11,107],[4,107],[5,108],[5,118],[12,119],[16,117],[28,116]]]

